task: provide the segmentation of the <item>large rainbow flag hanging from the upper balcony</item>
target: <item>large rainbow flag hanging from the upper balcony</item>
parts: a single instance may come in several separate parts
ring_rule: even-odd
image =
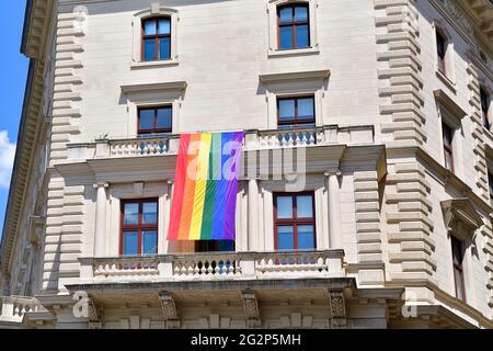
[[[182,134],[169,240],[234,240],[244,133]]]

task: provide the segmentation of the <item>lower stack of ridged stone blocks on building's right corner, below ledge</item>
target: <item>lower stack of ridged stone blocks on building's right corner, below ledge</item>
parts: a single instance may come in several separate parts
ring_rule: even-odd
[[[424,167],[405,162],[391,169],[386,194],[387,240],[398,245],[398,250],[389,252],[389,262],[399,264],[400,272],[391,272],[389,278],[391,281],[433,279],[437,264],[433,259],[435,244],[429,237],[434,229],[429,218],[433,206]]]

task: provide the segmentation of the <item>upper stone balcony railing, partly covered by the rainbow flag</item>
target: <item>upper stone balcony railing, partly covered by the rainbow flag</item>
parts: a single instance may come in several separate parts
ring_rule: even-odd
[[[297,129],[246,131],[244,148],[262,150],[324,145],[360,145],[374,141],[372,126],[329,125]],[[68,145],[69,159],[124,158],[175,155],[179,135],[139,138],[99,139]]]

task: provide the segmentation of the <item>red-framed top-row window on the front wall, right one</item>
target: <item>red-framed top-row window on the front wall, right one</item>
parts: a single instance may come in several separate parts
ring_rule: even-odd
[[[288,4],[277,9],[278,47],[280,49],[310,46],[310,15],[308,4]]]

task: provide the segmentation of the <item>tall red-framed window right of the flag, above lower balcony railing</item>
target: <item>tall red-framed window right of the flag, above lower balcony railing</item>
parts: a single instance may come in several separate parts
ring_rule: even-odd
[[[276,250],[316,248],[313,193],[274,194]]]

